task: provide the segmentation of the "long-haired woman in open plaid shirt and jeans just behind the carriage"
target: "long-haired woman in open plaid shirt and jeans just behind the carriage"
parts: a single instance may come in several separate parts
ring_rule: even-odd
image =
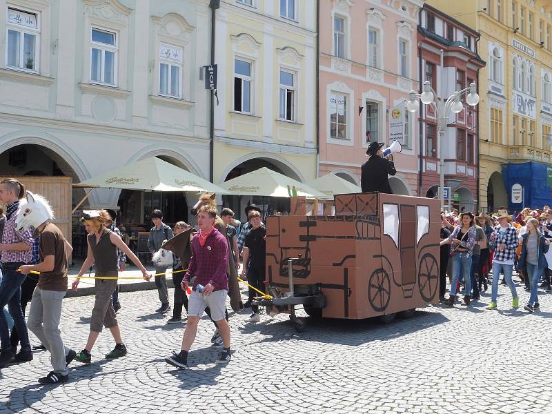
[[[449,239],[441,242],[451,242],[451,256],[453,259],[453,279],[451,281],[451,295],[449,306],[454,306],[456,299],[456,289],[460,275],[464,278],[464,305],[470,304],[471,293],[471,257],[473,255],[473,245],[475,244],[475,224],[472,213],[462,213],[460,215],[460,225],[456,226]]]

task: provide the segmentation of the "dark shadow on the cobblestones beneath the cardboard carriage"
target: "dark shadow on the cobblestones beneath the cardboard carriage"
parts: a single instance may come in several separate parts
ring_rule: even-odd
[[[432,326],[448,322],[449,319],[436,312],[416,311],[408,319],[395,319],[389,324],[382,324],[377,318],[370,319],[314,319],[300,317],[306,324],[304,333],[295,332],[293,324],[288,320],[273,322],[268,317],[257,324],[246,324],[239,327],[241,333],[258,332],[266,335],[260,341],[278,342],[286,339],[299,339],[331,344],[356,346],[374,340],[395,339],[402,335],[421,331]],[[253,343],[253,344],[254,344]]]

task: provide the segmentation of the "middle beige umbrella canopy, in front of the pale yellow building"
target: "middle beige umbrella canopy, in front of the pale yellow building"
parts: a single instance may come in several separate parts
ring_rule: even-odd
[[[314,188],[266,167],[240,175],[221,184],[221,187],[226,188],[232,194],[261,197],[289,197],[288,186],[295,186],[297,195],[304,195],[309,198],[326,198],[324,194]]]

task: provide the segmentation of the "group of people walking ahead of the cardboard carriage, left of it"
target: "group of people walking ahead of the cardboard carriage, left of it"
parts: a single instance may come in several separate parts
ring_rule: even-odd
[[[167,323],[178,324],[187,319],[180,351],[166,357],[168,364],[178,368],[188,366],[188,351],[204,313],[215,324],[215,335],[211,338],[213,347],[222,348],[215,362],[224,364],[230,361],[227,295],[234,311],[251,308],[248,322],[260,320],[259,309],[253,302],[257,296],[253,288],[264,290],[266,228],[261,210],[255,205],[248,206],[245,210],[248,221],[242,225],[232,210],[224,208],[219,216],[213,197],[205,199],[206,204],[198,203],[193,208],[195,226],[178,221],[173,230],[164,224],[161,210],[154,210],[151,214],[153,226],[148,248],[152,257],[173,237],[181,237],[189,246],[181,257],[172,255],[172,270],[164,264],[156,266],[154,279],[161,302],[156,312],[168,313],[171,310],[166,275],[172,273],[175,292],[172,317]],[[121,232],[115,224],[115,212],[85,210],[81,217],[88,233],[88,253],[71,286],[77,290],[81,277],[94,266],[95,302],[88,340],[77,353],[63,343],[59,329],[72,248],[61,230],[52,223],[54,212],[48,200],[26,191],[25,186],[15,179],[3,179],[0,181],[0,201],[6,205],[6,216],[0,212],[0,368],[33,359],[28,331],[41,342],[34,348],[46,349],[51,354],[53,370],[39,378],[41,384],[66,382],[68,366],[74,360],[90,364],[92,348],[104,327],[109,329],[115,341],[115,347],[105,357],[112,359],[126,355],[127,348],[117,323],[117,311],[121,308],[117,292],[119,271],[124,270],[126,259],[130,259],[144,279],[150,280],[152,275],[121,239]],[[245,304],[242,304],[237,288],[240,268],[241,276],[251,286]],[[25,308],[29,302],[26,320]],[[183,308],[186,317],[182,315]]]

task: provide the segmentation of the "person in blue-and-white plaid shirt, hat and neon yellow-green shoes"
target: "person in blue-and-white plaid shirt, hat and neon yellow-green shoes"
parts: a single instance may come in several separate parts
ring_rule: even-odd
[[[520,305],[520,297],[517,296],[515,284],[512,281],[513,258],[515,249],[519,244],[517,239],[517,230],[508,221],[512,216],[508,214],[508,210],[498,210],[493,215],[498,220],[498,226],[495,226],[491,234],[489,245],[495,249],[493,256],[493,286],[491,289],[491,304],[486,309],[496,309],[496,299],[498,296],[498,279],[500,272],[504,273],[506,284],[510,287],[512,293],[512,307],[517,308]]]

